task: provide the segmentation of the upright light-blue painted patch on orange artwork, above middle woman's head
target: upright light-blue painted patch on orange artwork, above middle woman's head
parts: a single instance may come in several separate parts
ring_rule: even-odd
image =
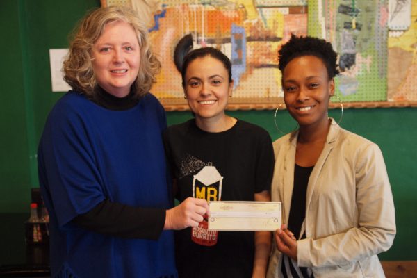
[[[240,76],[246,71],[245,28],[231,24],[231,76],[234,88],[239,85]]]

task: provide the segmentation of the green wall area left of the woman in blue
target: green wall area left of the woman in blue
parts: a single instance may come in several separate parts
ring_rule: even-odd
[[[67,48],[68,34],[99,0],[0,1],[0,213],[24,212],[38,187],[36,149],[49,110],[49,49]]]

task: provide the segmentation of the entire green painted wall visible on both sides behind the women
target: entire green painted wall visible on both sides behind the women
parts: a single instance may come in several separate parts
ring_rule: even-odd
[[[30,189],[38,187],[36,147],[49,110],[62,93],[51,92],[49,49],[66,48],[76,22],[99,0],[0,1],[0,213],[28,211]],[[330,111],[338,119],[339,111]],[[272,139],[274,111],[229,113],[267,129]],[[190,118],[167,113],[168,124]],[[393,188],[398,236],[386,260],[417,260],[417,109],[375,108],[345,111],[341,126],[381,147]],[[280,111],[277,123],[291,131],[295,123]]]

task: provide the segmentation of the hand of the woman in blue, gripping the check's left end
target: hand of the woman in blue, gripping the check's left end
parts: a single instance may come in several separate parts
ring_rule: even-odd
[[[181,230],[197,227],[206,213],[208,213],[208,204],[205,199],[188,197],[178,206],[167,210],[163,229]]]

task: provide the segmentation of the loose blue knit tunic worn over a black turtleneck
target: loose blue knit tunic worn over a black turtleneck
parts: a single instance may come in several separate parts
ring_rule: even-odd
[[[70,91],[52,109],[38,150],[51,221],[52,277],[176,277],[172,231],[158,240],[126,239],[71,221],[104,199],[170,208],[161,133],[165,112],[147,94],[112,111]]]

